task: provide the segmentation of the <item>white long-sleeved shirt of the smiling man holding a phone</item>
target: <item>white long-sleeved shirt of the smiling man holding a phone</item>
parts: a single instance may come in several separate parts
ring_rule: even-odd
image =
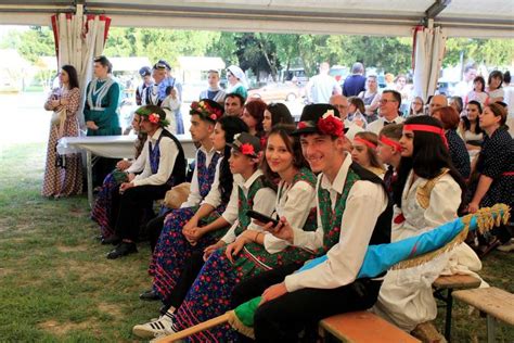
[[[343,192],[351,157],[345,153],[343,165],[331,183],[321,174],[319,187],[330,192],[332,208],[337,194]],[[316,190],[318,196],[318,189]],[[317,199],[318,203],[318,199]],[[285,278],[288,292],[304,288],[335,289],[354,282],[360,270],[378,216],[387,207],[387,194],[383,187],[359,180],[351,187],[340,220],[339,242],[327,252],[327,259],[316,267]],[[323,244],[323,227],[318,207],[318,229],[314,232],[294,229],[294,244],[314,251]]]

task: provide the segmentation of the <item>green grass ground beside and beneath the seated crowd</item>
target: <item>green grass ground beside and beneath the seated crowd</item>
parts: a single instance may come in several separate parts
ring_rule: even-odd
[[[131,342],[131,328],[155,317],[158,303],[141,302],[150,251],[107,261],[110,247],[89,218],[86,196],[40,195],[44,144],[0,150],[0,342]],[[493,252],[480,275],[514,292],[514,254]],[[459,302],[453,342],[485,342],[486,319]],[[437,319],[441,325],[444,313]],[[498,329],[498,342],[514,330]]]

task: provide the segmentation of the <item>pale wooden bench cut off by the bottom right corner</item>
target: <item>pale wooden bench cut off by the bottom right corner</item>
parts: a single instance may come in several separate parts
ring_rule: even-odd
[[[494,342],[496,321],[514,326],[514,294],[496,287],[453,292],[453,297],[487,315],[487,342]]]

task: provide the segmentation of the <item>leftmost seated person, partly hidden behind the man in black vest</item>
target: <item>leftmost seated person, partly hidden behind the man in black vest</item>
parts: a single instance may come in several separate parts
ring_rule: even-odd
[[[100,189],[94,202],[94,207],[91,211],[91,218],[100,226],[102,244],[106,244],[104,241],[114,234],[114,223],[116,217],[113,216],[114,213],[112,212],[113,192],[119,192],[119,186],[123,182],[132,181],[136,175],[141,173],[144,168],[144,162],[146,161],[147,154],[147,135],[141,131],[141,120],[142,117],[134,113],[132,128],[138,132],[138,138],[134,143],[134,161],[119,161],[116,164],[116,169],[110,173],[103,180],[102,188]]]

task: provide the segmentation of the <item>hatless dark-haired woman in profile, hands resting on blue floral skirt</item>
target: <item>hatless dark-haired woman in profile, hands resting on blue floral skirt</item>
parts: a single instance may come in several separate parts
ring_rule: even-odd
[[[175,209],[165,220],[149,270],[154,276],[153,291],[165,303],[191,255],[216,243],[236,219],[236,213],[234,215],[233,211],[226,212],[234,192],[233,175],[229,167],[230,147],[227,143],[232,143],[235,135],[247,129],[240,118],[223,116],[218,119],[211,141],[214,149],[222,153],[222,158],[216,169],[210,191],[200,206]],[[236,208],[235,201],[232,201],[231,206]]]

